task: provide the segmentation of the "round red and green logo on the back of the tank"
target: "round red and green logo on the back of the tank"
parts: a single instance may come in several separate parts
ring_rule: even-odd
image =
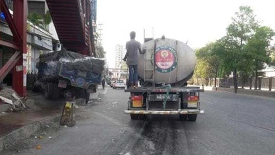
[[[159,72],[171,72],[177,66],[176,52],[170,46],[160,46],[155,53],[156,70]]]

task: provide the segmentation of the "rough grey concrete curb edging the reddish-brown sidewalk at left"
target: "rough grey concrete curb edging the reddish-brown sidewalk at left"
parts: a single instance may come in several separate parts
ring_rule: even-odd
[[[17,142],[22,141],[26,138],[29,138],[32,134],[39,131],[46,125],[51,125],[55,122],[60,121],[61,114],[52,116],[50,118],[33,122],[31,124],[27,124],[19,129],[16,129],[10,132],[7,135],[3,135],[0,137],[0,152],[5,149],[12,148]]]

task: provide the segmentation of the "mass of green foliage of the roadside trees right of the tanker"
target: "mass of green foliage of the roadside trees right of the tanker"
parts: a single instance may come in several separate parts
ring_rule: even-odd
[[[240,6],[226,36],[196,51],[196,77],[209,78],[213,72],[221,77],[233,72],[237,91],[237,76],[257,78],[264,64],[275,65],[275,46],[270,47],[274,36],[271,28],[259,25],[250,6]]]

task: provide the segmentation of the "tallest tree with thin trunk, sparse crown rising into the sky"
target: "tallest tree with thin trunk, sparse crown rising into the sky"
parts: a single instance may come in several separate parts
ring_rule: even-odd
[[[258,26],[258,21],[255,20],[255,15],[250,6],[240,6],[239,12],[235,13],[232,20],[232,23],[227,28],[226,44],[228,47],[226,50],[231,52],[229,54],[231,61],[227,61],[227,63],[229,63],[229,69],[233,72],[234,89],[235,93],[237,93],[237,71],[244,67],[245,59],[243,58],[246,56],[244,43],[253,34],[254,29]],[[241,71],[244,72],[244,70],[246,69]]]

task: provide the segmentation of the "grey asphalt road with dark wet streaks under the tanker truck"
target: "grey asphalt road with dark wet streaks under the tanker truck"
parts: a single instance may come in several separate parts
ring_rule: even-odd
[[[207,91],[196,122],[178,116],[130,120],[128,94],[108,88],[86,106],[76,127],[62,127],[32,155],[264,155],[275,152],[275,100]],[[85,115],[85,116],[84,116]]]

